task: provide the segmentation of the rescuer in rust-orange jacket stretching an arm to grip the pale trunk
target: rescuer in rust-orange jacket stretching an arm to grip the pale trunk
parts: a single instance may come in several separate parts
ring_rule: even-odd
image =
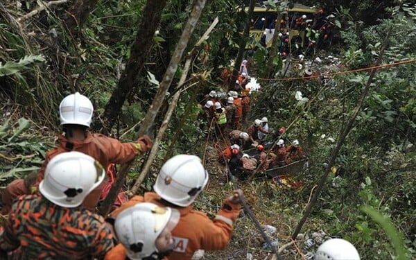
[[[60,124],[62,125],[65,135],[60,135],[58,137],[60,144],[57,148],[53,148],[46,153],[46,158],[35,182],[36,189],[44,178],[46,164],[60,153],[77,150],[94,157],[104,166],[104,168],[107,168],[110,163],[123,164],[129,162],[135,158],[136,155],[146,153],[153,145],[152,140],[147,135],[139,137],[135,143],[123,144],[117,139],[89,132],[87,129],[92,122],[94,107],[86,96],[83,96],[78,92],[66,96],[60,103],[59,110]],[[83,206],[87,209],[94,210],[100,198],[101,191],[106,184],[107,179],[104,180],[96,190],[89,194],[84,200]],[[8,196],[8,194],[12,194],[13,196]],[[25,195],[25,193],[19,194],[19,187],[12,184],[9,184],[8,187],[6,187],[2,198],[4,208],[4,210],[2,209],[3,214],[5,212],[6,214],[8,213],[13,200],[21,195]]]

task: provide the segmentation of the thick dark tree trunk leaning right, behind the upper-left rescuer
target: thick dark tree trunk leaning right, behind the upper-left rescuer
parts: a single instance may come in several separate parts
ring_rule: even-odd
[[[103,125],[98,125],[98,128],[103,128],[101,131],[105,134],[111,132],[116,119],[119,117],[121,107],[128,94],[136,87],[137,78],[144,67],[144,63],[148,58],[150,47],[153,43],[153,36],[160,24],[162,11],[166,6],[166,0],[147,1],[143,10],[143,17],[139,24],[136,41],[131,48],[130,59],[125,65],[125,71],[117,84],[117,87],[112,92],[110,100],[105,105],[105,110],[101,116]],[[170,84],[170,83],[169,83]]]

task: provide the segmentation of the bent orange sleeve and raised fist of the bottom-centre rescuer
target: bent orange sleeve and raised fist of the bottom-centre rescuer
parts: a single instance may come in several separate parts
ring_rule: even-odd
[[[201,249],[223,250],[231,239],[234,222],[239,217],[240,205],[234,205],[225,200],[214,221],[207,216],[206,225],[198,225],[202,232]]]

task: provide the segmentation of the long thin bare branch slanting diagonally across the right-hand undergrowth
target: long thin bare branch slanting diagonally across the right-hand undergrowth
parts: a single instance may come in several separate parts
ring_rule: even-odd
[[[383,46],[381,47],[379,59],[376,61],[376,64],[374,65],[374,67],[378,66],[381,63],[381,58],[383,57],[383,53],[385,51],[385,48],[388,45],[388,40],[389,40],[391,31],[392,31],[392,28],[390,27],[387,35],[385,36]],[[363,92],[361,93],[360,100],[358,101],[358,103],[357,103],[357,105],[354,109],[354,114],[352,114],[352,116],[349,117],[349,119],[347,121],[347,125],[345,125],[345,128],[340,132],[340,136],[338,138],[336,148],[334,148],[332,150],[331,156],[329,157],[329,163],[328,163],[327,167],[325,168],[324,174],[322,174],[322,177],[320,178],[320,180],[318,182],[318,187],[316,188],[316,191],[313,194],[311,202],[309,202],[309,204],[307,205],[307,207],[305,209],[305,212],[304,212],[304,216],[302,216],[301,220],[297,224],[295,232],[293,232],[293,235],[292,235],[293,240],[296,239],[297,234],[299,234],[300,230],[302,229],[302,226],[306,222],[306,219],[309,217],[309,214],[311,214],[313,205],[315,205],[316,201],[318,200],[318,197],[320,196],[320,192],[322,191],[322,189],[324,187],[324,184],[327,180],[329,171],[331,170],[331,167],[335,163],[336,156],[338,155],[339,150],[343,146],[345,138],[349,134],[349,131],[351,131],[352,125],[354,124],[356,116],[361,111],[361,108],[364,105],[365,97],[367,96],[367,94],[370,90],[370,85],[371,85],[372,79],[374,78],[375,74],[376,74],[376,68],[374,68],[370,71],[370,76],[368,77],[367,85],[365,85],[365,88],[364,88]]]

